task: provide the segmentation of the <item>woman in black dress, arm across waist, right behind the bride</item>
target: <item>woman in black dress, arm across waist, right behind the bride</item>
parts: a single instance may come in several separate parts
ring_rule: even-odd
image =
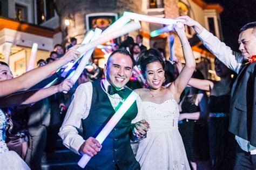
[[[200,71],[196,70],[192,78],[204,79],[204,76]],[[194,87],[186,87],[179,106],[179,132],[184,142],[190,166],[192,169],[197,169],[197,161],[199,160],[199,135],[197,125],[199,119],[206,120],[207,118],[207,95],[204,91]],[[200,130],[202,130],[202,128]]]

